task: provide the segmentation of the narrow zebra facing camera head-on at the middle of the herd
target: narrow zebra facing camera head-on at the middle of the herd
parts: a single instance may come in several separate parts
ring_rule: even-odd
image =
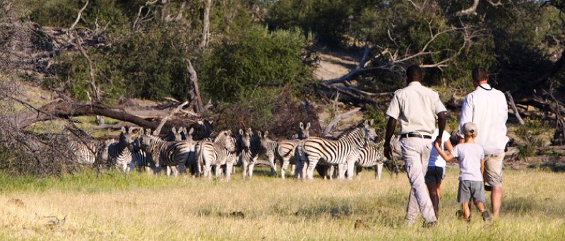
[[[253,178],[253,169],[258,156],[261,153],[265,153],[265,149],[261,146],[261,137],[259,137],[259,134],[254,134],[251,128],[249,128],[245,132],[245,135],[249,136],[249,143],[246,143],[246,141],[243,142],[246,146],[244,150],[239,153],[238,157],[238,163],[242,165],[244,180],[246,177],[249,177],[249,179]]]

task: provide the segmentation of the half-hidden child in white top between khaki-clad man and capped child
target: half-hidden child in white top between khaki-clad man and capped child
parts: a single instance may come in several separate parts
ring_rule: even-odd
[[[438,129],[434,131],[432,140],[436,140],[438,132]],[[450,137],[451,135],[447,133],[447,131],[444,131],[444,134],[441,135],[441,149],[444,151],[447,150],[451,153],[453,146],[451,145],[451,141],[449,141]],[[444,177],[446,177],[446,160],[439,156],[435,148],[432,148],[429,153],[428,169],[424,180],[428,187],[429,197],[432,199],[432,205],[434,205],[436,217],[438,216],[439,210],[439,187],[441,186],[441,180],[444,180]]]

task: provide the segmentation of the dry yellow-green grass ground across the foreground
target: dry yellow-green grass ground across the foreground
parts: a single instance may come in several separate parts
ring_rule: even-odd
[[[232,181],[85,171],[0,175],[0,240],[559,240],[563,173],[504,171],[504,204],[490,224],[456,218],[458,170],[448,169],[439,225],[403,223],[404,173],[375,180]],[[487,201],[489,207],[489,201]],[[355,223],[359,224],[357,228]]]

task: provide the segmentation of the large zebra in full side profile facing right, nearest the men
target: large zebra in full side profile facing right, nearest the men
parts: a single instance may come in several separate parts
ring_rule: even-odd
[[[359,149],[367,146],[369,126],[372,121],[359,122],[355,128],[341,134],[337,140],[310,137],[304,140],[302,148],[308,158],[307,178],[313,179],[314,168],[320,159],[330,165],[347,164],[347,178],[352,179],[355,162],[359,159]],[[301,168],[304,163],[299,162]],[[345,170],[339,170],[339,178],[345,178]]]

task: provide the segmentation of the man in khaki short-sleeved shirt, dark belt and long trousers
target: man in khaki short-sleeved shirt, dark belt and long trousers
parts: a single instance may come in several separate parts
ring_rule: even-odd
[[[408,67],[406,76],[408,86],[396,90],[391,105],[386,110],[388,123],[383,145],[384,154],[386,158],[391,159],[390,141],[396,129],[397,119],[400,119],[400,151],[411,186],[405,221],[408,224],[414,223],[420,211],[424,218],[424,226],[431,226],[436,223],[436,215],[424,176],[432,148],[432,134],[436,129],[436,117],[439,129],[436,142],[441,144],[446,126],[446,107],[434,90],[420,83],[422,69],[419,66]]]

